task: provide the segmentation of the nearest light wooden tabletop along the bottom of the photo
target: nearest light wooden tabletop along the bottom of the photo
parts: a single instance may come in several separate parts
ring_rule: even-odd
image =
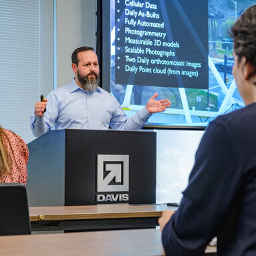
[[[207,247],[206,255],[216,249]],[[1,255],[164,255],[159,229],[94,231],[0,237]]]

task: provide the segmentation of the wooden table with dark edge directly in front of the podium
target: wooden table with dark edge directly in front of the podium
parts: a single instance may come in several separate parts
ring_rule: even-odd
[[[32,231],[104,230],[152,228],[162,211],[177,207],[162,205],[86,205],[29,207]]]

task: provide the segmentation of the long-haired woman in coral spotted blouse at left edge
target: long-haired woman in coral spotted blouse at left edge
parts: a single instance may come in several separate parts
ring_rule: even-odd
[[[29,150],[24,140],[0,126],[0,182],[27,182]]]

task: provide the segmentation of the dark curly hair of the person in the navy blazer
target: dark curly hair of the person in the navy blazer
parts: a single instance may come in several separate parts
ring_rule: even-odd
[[[249,7],[237,19],[231,28],[230,35],[234,40],[233,50],[238,62],[244,56],[246,63],[253,67],[248,79],[256,74],[256,5]]]

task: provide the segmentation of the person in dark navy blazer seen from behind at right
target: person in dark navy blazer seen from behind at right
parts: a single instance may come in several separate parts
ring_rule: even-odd
[[[158,220],[166,255],[256,255],[256,5],[231,29],[233,76],[245,107],[213,120],[176,213]]]

